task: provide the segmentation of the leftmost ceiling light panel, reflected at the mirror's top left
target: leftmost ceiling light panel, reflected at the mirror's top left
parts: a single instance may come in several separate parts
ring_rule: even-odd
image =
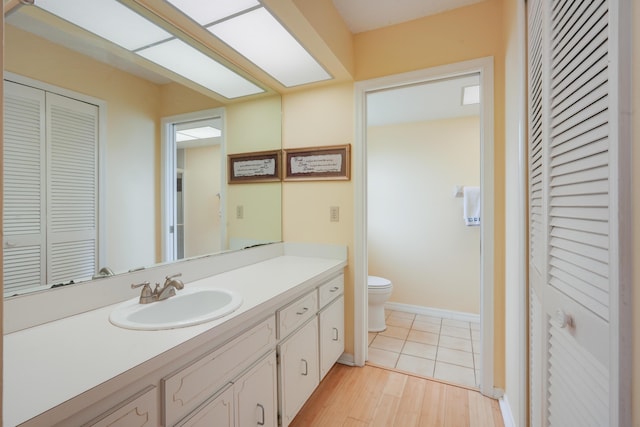
[[[35,4],[128,50],[173,37],[115,0],[38,0]]]

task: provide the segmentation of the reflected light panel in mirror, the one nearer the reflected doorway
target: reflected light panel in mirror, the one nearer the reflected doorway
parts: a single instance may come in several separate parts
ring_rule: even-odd
[[[264,92],[182,40],[169,40],[136,53],[226,98]]]

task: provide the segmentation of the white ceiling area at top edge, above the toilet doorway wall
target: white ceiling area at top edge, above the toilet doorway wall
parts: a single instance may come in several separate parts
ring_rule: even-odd
[[[399,24],[482,0],[333,0],[352,33]]]

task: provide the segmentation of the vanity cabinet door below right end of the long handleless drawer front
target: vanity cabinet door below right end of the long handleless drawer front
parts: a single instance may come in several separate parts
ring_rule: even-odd
[[[236,426],[278,426],[275,351],[244,374],[234,386]]]

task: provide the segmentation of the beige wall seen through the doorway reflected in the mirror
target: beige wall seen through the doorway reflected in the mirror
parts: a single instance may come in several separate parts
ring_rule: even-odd
[[[220,252],[220,145],[185,149],[184,256]]]

